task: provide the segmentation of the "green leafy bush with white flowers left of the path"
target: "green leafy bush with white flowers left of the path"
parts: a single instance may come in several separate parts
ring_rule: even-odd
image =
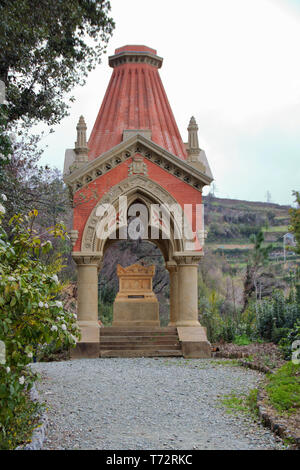
[[[57,299],[61,290],[57,273],[59,257],[51,264],[41,253],[51,249],[35,231],[37,211],[16,215],[11,221],[13,238],[1,226],[0,214],[0,340],[5,344],[5,363],[0,364],[0,449],[14,448],[21,410],[28,404],[27,391],[36,376],[26,367],[43,345],[74,346],[79,330],[76,315]],[[58,224],[48,234],[64,238]],[[27,418],[28,419],[28,418]]]

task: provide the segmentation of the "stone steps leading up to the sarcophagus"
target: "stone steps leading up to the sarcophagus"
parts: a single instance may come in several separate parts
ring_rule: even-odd
[[[177,328],[102,327],[100,357],[182,356]]]

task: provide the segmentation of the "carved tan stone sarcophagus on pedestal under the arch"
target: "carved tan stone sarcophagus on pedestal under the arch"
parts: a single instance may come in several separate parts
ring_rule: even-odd
[[[159,304],[152,290],[155,266],[118,264],[119,292],[114,301],[113,326],[159,326]]]

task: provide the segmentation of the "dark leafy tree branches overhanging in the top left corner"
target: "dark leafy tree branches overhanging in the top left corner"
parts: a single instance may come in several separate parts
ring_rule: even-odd
[[[105,52],[114,29],[107,0],[2,0],[0,80],[9,122],[59,122],[64,96]],[[72,100],[72,98],[70,99]]]

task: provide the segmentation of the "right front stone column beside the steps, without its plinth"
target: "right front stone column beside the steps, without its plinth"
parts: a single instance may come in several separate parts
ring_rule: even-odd
[[[198,321],[198,264],[200,257],[174,257],[178,265],[176,326],[200,326]]]

